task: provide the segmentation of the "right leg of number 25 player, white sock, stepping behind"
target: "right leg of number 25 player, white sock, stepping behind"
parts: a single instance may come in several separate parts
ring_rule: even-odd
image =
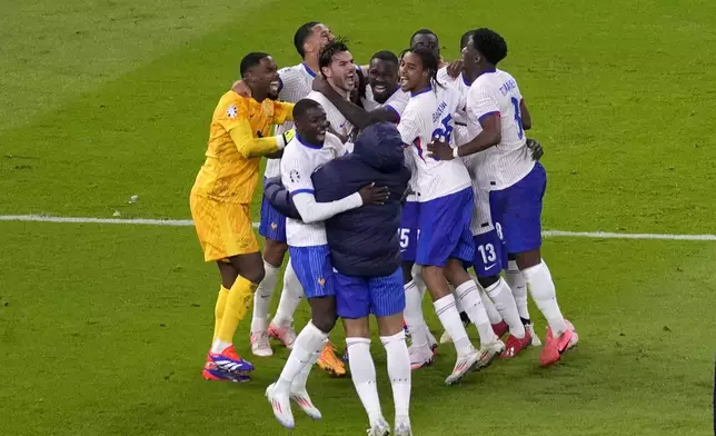
[[[495,335],[477,290],[477,284],[465,270],[460,259],[447,261],[445,277],[455,286],[456,299],[460,301],[463,310],[477,327],[480,335],[480,357],[477,367],[485,368],[505,349],[505,344]]]

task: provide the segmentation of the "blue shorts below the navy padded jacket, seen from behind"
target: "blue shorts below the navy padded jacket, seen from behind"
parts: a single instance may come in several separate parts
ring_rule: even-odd
[[[336,275],[336,310],[341,318],[357,319],[374,314],[378,317],[405,309],[402,269],[386,277]]]

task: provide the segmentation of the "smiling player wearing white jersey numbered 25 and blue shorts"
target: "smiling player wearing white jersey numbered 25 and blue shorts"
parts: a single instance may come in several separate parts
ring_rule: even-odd
[[[432,137],[445,137],[450,141],[455,123],[453,113],[461,106],[460,95],[436,81],[437,58],[425,48],[408,49],[400,61],[400,86],[411,93],[398,130],[406,145],[409,158],[417,169],[414,191],[419,202],[416,232],[416,264],[422,267],[422,278],[432,297],[440,323],[454,338],[458,360],[446,384],[459,380],[474,367],[487,366],[499,354],[504,344],[494,337],[479,351],[473,347],[455,307],[455,297],[447,281],[456,288],[456,294],[470,319],[485,334],[484,320],[487,314],[480,301],[477,285],[463,267],[464,261],[474,257],[470,235],[473,190],[467,169],[459,160],[440,161],[427,156],[425,147]],[[415,242],[415,241],[412,241]],[[447,281],[446,281],[447,279]],[[406,293],[409,288],[406,288]],[[406,295],[406,300],[408,300]],[[417,349],[430,353],[428,340],[421,329],[414,331],[412,319],[421,316],[420,300],[406,301],[406,321]],[[417,303],[417,304],[416,304]],[[412,313],[412,314],[409,314]],[[414,314],[419,314],[414,316]],[[416,335],[417,334],[417,335]]]

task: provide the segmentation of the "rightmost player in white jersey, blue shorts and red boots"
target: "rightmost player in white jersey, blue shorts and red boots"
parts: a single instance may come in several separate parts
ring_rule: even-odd
[[[531,127],[531,118],[515,78],[497,69],[507,56],[503,37],[478,29],[465,56],[478,65],[467,98],[468,128],[474,139],[454,149],[444,141],[429,149],[439,159],[485,152],[479,182],[490,191],[491,218],[501,228],[505,248],[515,255],[535,304],[549,324],[540,363],[551,365],[576,346],[578,336],[561,315],[549,269],[541,259],[540,216],[547,179],[527,147],[525,129]]]

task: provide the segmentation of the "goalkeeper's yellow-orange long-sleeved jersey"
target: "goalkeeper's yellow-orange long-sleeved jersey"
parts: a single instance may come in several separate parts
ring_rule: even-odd
[[[272,123],[292,120],[294,105],[258,102],[232,90],[221,96],[209,131],[206,161],[192,194],[217,201],[250,204],[259,179],[260,156],[277,149],[267,137]]]

